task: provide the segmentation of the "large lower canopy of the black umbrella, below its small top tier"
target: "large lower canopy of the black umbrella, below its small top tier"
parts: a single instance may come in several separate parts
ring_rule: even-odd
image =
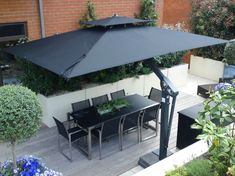
[[[112,17],[118,21],[119,17]],[[123,18],[124,19],[124,18]],[[96,21],[97,22],[97,21]],[[125,20],[122,24],[125,24]],[[113,23],[114,25],[114,23]],[[226,40],[148,26],[93,27],[39,39],[4,51],[65,78]]]

